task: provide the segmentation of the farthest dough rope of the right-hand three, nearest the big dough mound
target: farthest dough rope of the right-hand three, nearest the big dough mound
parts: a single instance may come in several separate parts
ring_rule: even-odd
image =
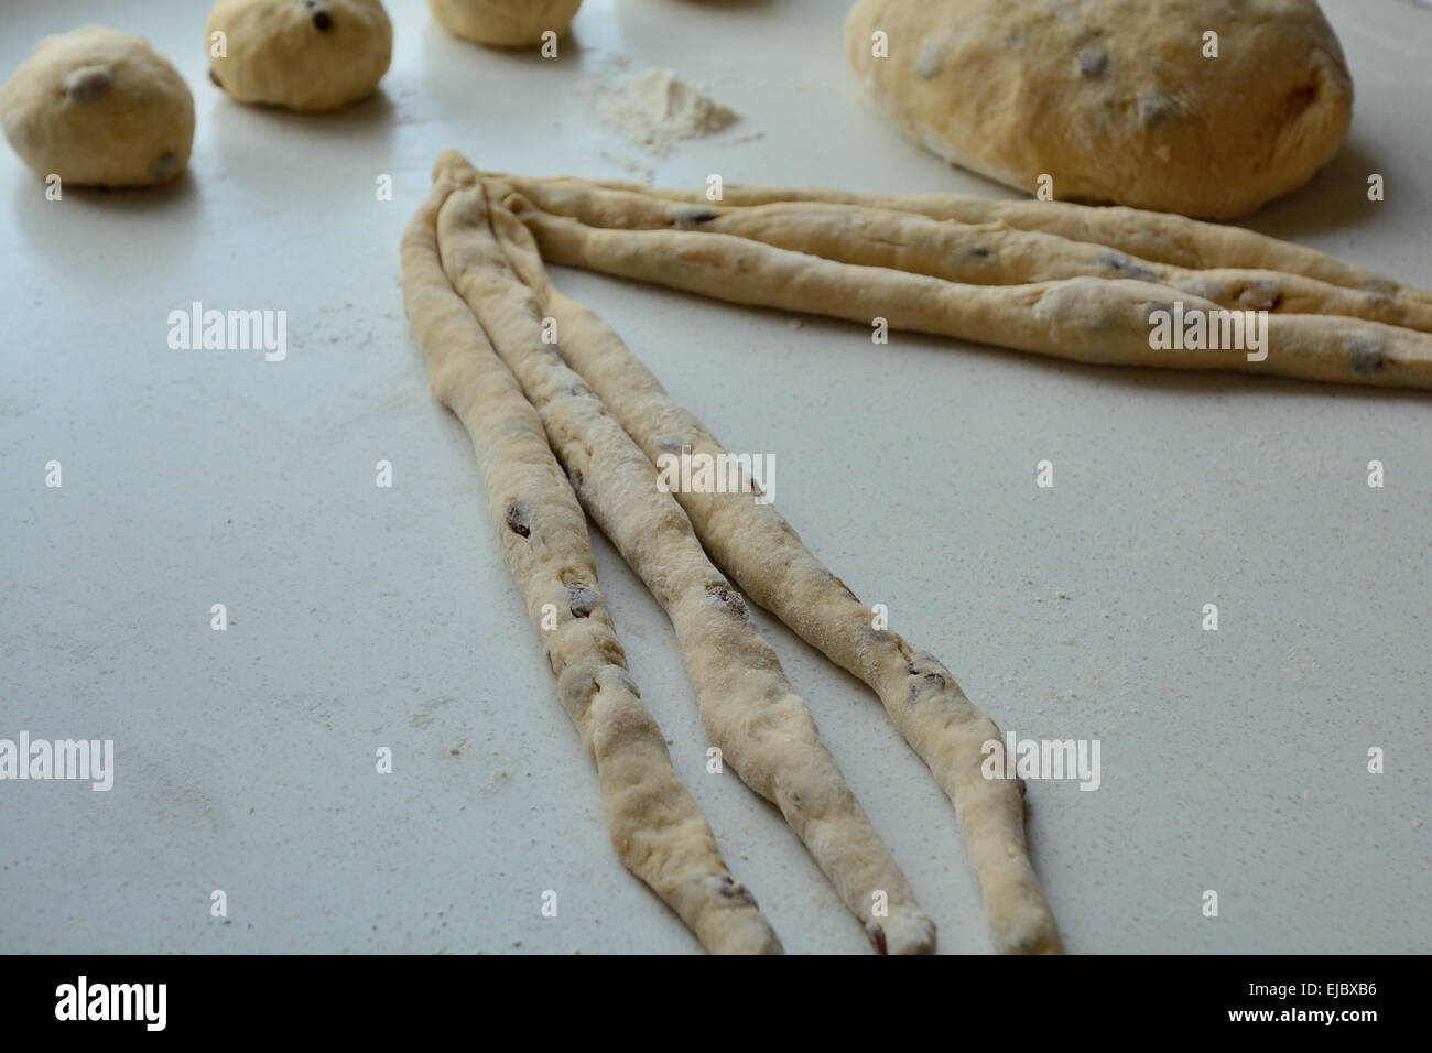
[[[505,178],[505,176],[504,176]],[[669,201],[710,205],[705,191],[672,191],[621,179],[597,179],[613,191],[652,193]],[[1349,289],[1398,294],[1432,302],[1432,291],[1403,285],[1386,275],[1292,242],[1240,226],[1209,223],[1166,212],[1123,205],[1075,205],[1063,201],[984,201],[955,193],[885,195],[823,188],[755,186],[726,183],[725,205],[770,205],[811,201],[828,205],[861,205],[892,212],[914,212],[931,219],[961,223],[1005,222],[1021,231],[1042,231],[1070,241],[1085,241],[1127,252],[1140,259],[1189,269],[1247,268],[1283,271],[1316,278]]]

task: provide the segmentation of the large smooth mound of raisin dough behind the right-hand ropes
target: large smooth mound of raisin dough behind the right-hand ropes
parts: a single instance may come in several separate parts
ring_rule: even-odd
[[[914,139],[1024,191],[1047,173],[1061,201],[1240,216],[1306,183],[1352,120],[1313,0],[859,0],[845,44]]]

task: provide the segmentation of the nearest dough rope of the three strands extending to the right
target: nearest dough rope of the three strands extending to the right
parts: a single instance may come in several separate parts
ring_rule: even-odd
[[[1156,350],[1154,311],[1217,311],[1197,297],[1130,279],[961,285],[885,266],[841,264],[726,234],[604,229],[508,202],[548,262],[634,278],[736,304],[776,307],[1100,365],[1232,370],[1342,384],[1432,388],[1432,335],[1360,318],[1269,315],[1267,357],[1242,350]]]

